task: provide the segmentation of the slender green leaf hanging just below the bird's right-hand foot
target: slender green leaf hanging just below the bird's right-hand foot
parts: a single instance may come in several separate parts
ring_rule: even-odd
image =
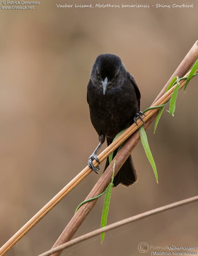
[[[140,139],[142,141],[142,145],[143,145],[143,148],[145,150],[146,156],[147,156],[148,161],[150,162],[150,164],[153,168],[155,178],[156,178],[156,181],[158,183],[157,168],[156,168],[155,161],[153,159],[151,150],[150,150],[149,145],[148,145],[148,139],[147,139],[146,132],[145,132],[145,129],[144,129],[143,125],[139,128],[139,133],[140,133]]]

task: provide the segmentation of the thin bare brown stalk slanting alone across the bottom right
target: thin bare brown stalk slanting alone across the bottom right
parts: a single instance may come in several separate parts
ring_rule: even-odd
[[[185,205],[185,204],[189,204],[189,203],[195,202],[197,200],[198,200],[198,195],[190,197],[190,198],[187,198],[187,199],[184,199],[184,200],[181,200],[181,201],[174,202],[172,204],[167,204],[167,205],[161,206],[159,208],[155,208],[153,210],[143,212],[141,214],[137,214],[135,216],[126,218],[124,220],[117,221],[115,223],[112,223],[110,225],[107,225],[105,227],[96,229],[96,230],[91,231],[91,232],[89,232],[87,234],[84,234],[84,235],[79,236],[79,237],[77,237],[75,239],[72,239],[71,241],[66,242],[66,243],[64,243],[62,245],[59,245],[59,246],[57,246],[57,247],[55,247],[55,248],[53,248],[53,249],[51,249],[49,251],[46,251],[46,252],[44,252],[44,253],[42,253],[42,254],[40,254],[38,256],[49,256],[49,255],[53,254],[54,252],[57,252],[57,251],[60,251],[60,250],[64,250],[65,248],[67,248],[69,246],[75,245],[75,244],[80,243],[82,241],[85,241],[85,240],[87,240],[89,238],[97,236],[97,235],[99,235],[102,232],[110,231],[112,229],[124,226],[124,225],[126,225],[128,223],[132,223],[132,222],[135,222],[137,220],[144,219],[144,218],[146,218],[148,216],[152,216],[154,214],[158,214],[158,213],[163,212],[163,211],[174,209],[176,207],[179,207],[179,206],[182,206],[182,205]]]

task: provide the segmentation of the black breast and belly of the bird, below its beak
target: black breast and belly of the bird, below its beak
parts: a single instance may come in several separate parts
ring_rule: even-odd
[[[135,97],[134,97],[135,96]],[[136,95],[122,87],[108,87],[105,95],[102,88],[95,91],[90,105],[90,116],[94,127],[110,138],[129,126],[138,111]]]

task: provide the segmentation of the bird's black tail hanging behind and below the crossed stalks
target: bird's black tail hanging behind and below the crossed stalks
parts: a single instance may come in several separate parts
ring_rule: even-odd
[[[112,140],[109,140],[107,138],[107,145],[110,145],[111,142]],[[117,149],[114,151],[113,158],[116,155],[116,153],[117,153]],[[108,165],[109,165],[109,160],[107,158],[104,171],[106,170]],[[125,163],[123,164],[123,166],[120,168],[120,170],[114,177],[114,181],[113,181],[114,187],[116,187],[120,183],[128,187],[133,183],[135,183],[136,181],[137,181],[136,169],[134,167],[131,155],[129,155],[129,157],[126,159]]]

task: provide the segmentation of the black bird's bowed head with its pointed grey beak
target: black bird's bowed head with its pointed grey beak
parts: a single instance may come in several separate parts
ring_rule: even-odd
[[[103,93],[105,92],[120,72],[122,61],[113,54],[101,54],[96,58],[91,71],[91,80],[94,84],[102,84]]]

